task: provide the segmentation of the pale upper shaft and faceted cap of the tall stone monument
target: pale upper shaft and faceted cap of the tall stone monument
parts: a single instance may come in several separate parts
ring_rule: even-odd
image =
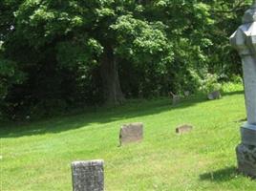
[[[245,11],[243,25],[230,37],[242,58],[247,121],[256,124],[256,2]]]

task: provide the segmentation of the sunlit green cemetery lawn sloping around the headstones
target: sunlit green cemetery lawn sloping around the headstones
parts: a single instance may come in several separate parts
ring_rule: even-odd
[[[104,159],[106,191],[255,190],[236,170],[245,119],[242,91],[220,100],[129,101],[83,115],[1,124],[1,191],[70,191],[71,162]],[[143,122],[144,140],[118,147],[124,123]],[[176,135],[181,124],[194,129]]]

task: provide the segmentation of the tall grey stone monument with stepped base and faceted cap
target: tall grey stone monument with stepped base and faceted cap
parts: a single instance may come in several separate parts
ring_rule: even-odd
[[[242,142],[236,148],[239,171],[256,177],[256,0],[245,11],[243,24],[230,37],[242,58],[247,122],[241,127]]]

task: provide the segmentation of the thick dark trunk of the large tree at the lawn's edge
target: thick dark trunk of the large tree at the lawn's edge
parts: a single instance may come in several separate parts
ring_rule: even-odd
[[[122,103],[125,98],[120,88],[117,60],[111,47],[106,47],[104,50],[101,58],[100,74],[106,103],[112,105]]]

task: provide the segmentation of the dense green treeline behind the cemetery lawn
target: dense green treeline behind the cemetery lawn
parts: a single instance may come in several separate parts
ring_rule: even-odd
[[[1,0],[0,116],[51,115],[232,80],[246,0]]]

